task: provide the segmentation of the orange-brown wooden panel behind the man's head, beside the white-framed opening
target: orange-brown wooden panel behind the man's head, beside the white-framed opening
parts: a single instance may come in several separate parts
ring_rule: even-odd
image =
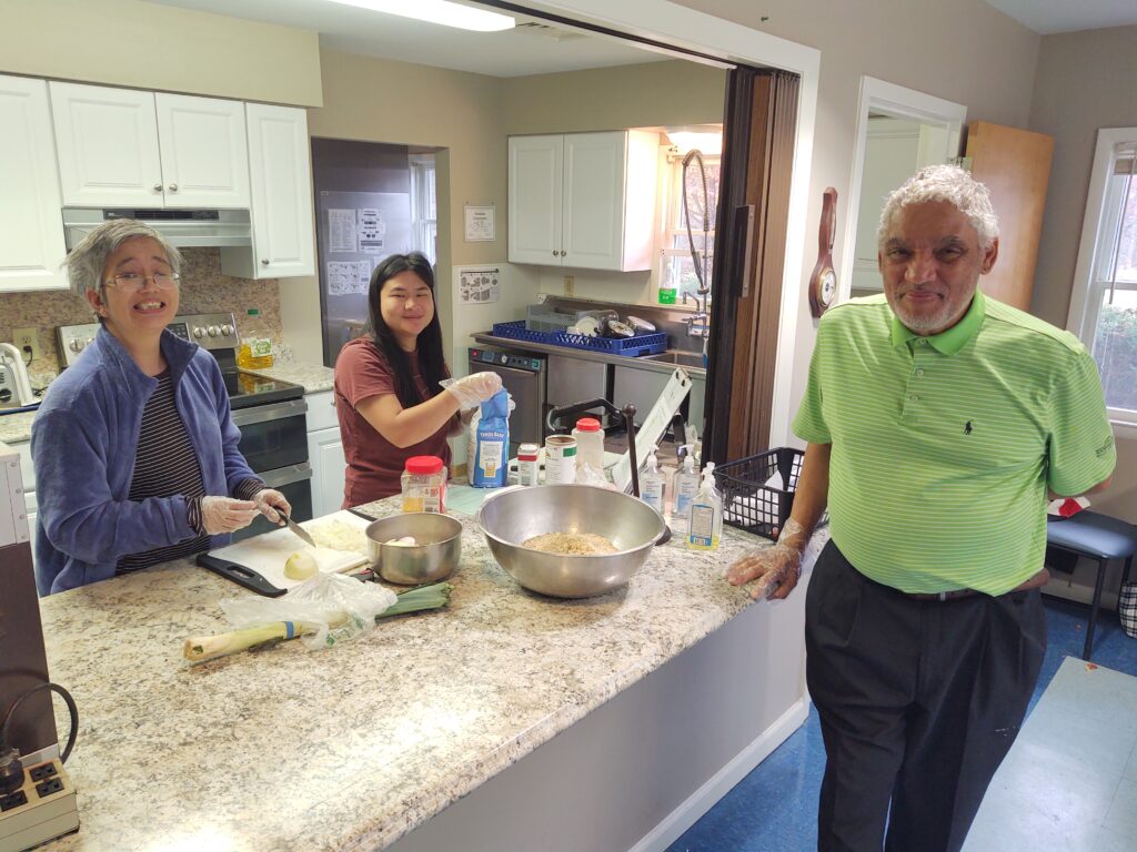
[[[995,267],[979,279],[984,293],[1028,310],[1043,229],[1054,140],[989,122],[968,124],[971,175],[990,191],[999,220]]]

